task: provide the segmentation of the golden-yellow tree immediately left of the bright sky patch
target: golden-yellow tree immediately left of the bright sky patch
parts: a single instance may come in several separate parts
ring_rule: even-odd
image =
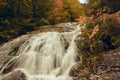
[[[69,13],[70,21],[75,21],[79,16],[84,15],[83,6],[78,0],[64,0],[64,11]]]

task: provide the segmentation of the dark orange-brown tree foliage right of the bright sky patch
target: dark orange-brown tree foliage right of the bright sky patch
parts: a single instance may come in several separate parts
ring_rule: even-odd
[[[114,13],[120,10],[119,5],[119,0],[88,0],[85,12],[87,16]]]

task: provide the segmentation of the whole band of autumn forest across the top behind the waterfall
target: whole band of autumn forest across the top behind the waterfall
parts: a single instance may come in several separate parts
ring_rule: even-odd
[[[80,16],[115,13],[118,0],[0,0],[0,43],[42,25],[75,22]]]

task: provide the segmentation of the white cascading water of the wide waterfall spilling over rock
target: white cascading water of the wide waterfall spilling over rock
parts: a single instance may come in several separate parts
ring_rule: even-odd
[[[19,55],[12,58],[17,63],[14,71],[24,73],[27,80],[72,80],[69,72],[76,63],[75,41],[79,34],[75,29],[72,32],[46,32],[30,36],[16,53]],[[4,67],[1,72],[3,70]],[[7,75],[1,76],[1,80]]]

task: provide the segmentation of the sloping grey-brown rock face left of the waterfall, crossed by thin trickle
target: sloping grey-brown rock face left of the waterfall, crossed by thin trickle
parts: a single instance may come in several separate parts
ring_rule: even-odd
[[[16,60],[13,57],[19,55],[17,52],[20,46],[28,38],[29,35],[23,35],[0,46],[0,73],[8,73],[16,67]]]

